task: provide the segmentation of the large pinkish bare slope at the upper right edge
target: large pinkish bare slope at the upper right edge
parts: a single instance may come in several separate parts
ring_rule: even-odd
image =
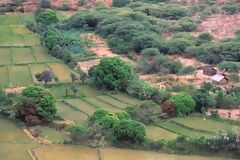
[[[194,33],[198,35],[202,32],[209,32],[214,40],[234,38],[235,32],[240,28],[240,14],[223,15],[215,14],[205,19],[197,26]]]

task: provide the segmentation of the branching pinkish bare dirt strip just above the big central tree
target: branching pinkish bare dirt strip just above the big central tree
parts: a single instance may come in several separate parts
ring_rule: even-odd
[[[135,65],[135,63],[129,58],[113,53],[111,49],[108,47],[106,41],[100,36],[93,33],[86,33],[83,34],[82,36],[93,42],[93,45],[89,48],[89,51],[96,55],[96,59],[78,62],[77,67],[79,69],[87,72],[92,66],[98,65],[100,59],[103,57],[118,57],[131,66]]]

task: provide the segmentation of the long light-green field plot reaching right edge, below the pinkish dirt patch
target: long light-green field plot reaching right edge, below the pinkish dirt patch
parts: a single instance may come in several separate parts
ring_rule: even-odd
[[[181,123],[187,127],[206,130],[210,132],[219,133],[219,131],[227,132],[227,131],[235,131],[240,132],[240,126],[231,125],[224,122],[218,122],[215,120],[204,119],[201,117],[184,117],[184,118],[174,118],[178,123]]]

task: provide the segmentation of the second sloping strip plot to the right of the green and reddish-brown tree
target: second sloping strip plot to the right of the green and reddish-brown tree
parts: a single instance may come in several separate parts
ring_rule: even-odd
[[[97,110],[97,108],[84,102],[81,99],[67,99],[66,102],[74,106],[76,109],[86,113],[87,115],[92,115]]]

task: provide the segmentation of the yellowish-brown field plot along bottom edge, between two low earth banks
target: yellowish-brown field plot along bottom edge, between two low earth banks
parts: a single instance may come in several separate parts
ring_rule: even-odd
[[[42,160],[99,160],[97,149],[77,145],[45,145],[37,155]]]

